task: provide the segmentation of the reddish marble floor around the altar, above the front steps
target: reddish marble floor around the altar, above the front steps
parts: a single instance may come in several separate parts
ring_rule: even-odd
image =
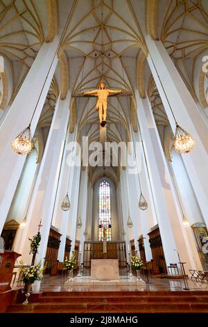
[[[184,280],[160,278],[155,276],[141,275],[144,282],[137,282],[135,276],[121,276],[119,281],[101,281],[94,282],[89,276],[74,277],[74,282],[67,282],[67,276],[44,276],[41,281],[33,284],[33,293],[36,292],[92,292],[92,291],[110,291],[110,292],[131,292],[131,291],[183,291]],[[191,291],[208,291],[208,282],[196,282],[196,280],[186,279],[187,285]],[[20,285],[14,285],[14,289]],[[185,291],[184,291],[185,292]]]

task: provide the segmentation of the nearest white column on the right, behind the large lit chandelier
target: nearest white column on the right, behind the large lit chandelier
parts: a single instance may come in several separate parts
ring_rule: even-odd
[[[146,43],[149,50],[150,70],[173,131],[175,132],[175,121],[171,109],[177,123],[186,129],[196,141],[196,148],[193,152],[182,154],[182,159],[208,226],[207,124],[162,42],[151,40],[148,35],[146,36]]]

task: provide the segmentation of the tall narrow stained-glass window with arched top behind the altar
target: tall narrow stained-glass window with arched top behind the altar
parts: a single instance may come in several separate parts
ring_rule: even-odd
[[[99,241],[111,241],[110,184],[102,180],[99,187]]]

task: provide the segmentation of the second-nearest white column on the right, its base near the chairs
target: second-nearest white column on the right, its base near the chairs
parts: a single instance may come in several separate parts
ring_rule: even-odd
[[[144,140],[144,150],[150,173],[150,184],[153,190],[155,209],[162,237],[166,264],[178,262],[176,249],[182,262],[187,262],[186,269],[196,269],[189,248],[187,234],[182,225],[182,216],[177,204],[177,198],[171,176],[166,166],[166,159],[159,140],[157,127],[148,99],[141,99],[138,91],[137,115],[140,122],[141,135]]]

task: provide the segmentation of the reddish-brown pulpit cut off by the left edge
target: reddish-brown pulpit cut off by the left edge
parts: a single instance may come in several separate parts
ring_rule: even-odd
[[[13,251],[0,253],[0,292],[11,289],[10,282],[12,281],[12,271],[17,257],[20,256],[19,253]]]

